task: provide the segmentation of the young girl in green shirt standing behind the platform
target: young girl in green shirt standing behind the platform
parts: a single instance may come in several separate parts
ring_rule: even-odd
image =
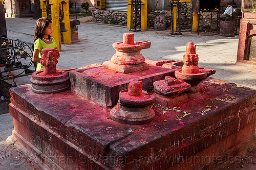
[[[34,52],[33,61],[37,62],[36,71],[42,70],[41,65],[41,53],[44,48],[57,48],[55,40],[51,37],[52,35],[52,21],[48,18],[39,18],[35,23],[35,36],[34,36]],[[57,57],[57,59],[59,56]]]

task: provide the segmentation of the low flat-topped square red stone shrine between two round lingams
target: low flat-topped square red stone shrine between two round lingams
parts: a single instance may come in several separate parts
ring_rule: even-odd
[[[165,107],[173,107],[187,101],[187,94],[183,93],[190,89],[190,84],[166,76],[164,80],[153,83],[156,103]]]

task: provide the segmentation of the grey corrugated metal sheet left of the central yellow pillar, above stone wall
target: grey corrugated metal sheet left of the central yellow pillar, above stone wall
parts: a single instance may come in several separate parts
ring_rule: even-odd
[[[106,9],[114,11],[127,11],[127,0],[106,0]]]

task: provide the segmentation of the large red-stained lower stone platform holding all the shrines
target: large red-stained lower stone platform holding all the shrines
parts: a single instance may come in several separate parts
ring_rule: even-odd
[[[70,90],[18,86],[8,139],[45,169],[215,169],[255,142],[256,91],[211,78],[199,86],[202,98],[167,110],[155,103],[155,119],[139,126],[114,122],[110,109]]]

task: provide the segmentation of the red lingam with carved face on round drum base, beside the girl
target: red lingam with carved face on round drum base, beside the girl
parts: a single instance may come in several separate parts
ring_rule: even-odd
[[[30,82],[32,91],[39,94],[51,94],[65,91],[70,87],[69,72],[56,69],[59,51],[53,48],[42,49],[41,64],[44,70],[33,72]]]

